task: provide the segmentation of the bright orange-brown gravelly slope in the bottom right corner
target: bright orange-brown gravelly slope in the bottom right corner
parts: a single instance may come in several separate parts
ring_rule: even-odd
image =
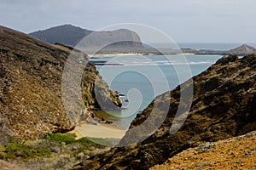
[[[231,139],[201,144],[169,158],[150,170],[167,169],[255,169],[256,132]]]

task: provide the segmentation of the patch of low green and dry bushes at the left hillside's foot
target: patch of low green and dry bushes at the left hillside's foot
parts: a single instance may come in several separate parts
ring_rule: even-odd
[[[76,135],[73,133],[46,133],[44,138],[40,140],[3,144],[0,145],[0,159],[17,161],[19,164],[23,162],[24,166],[30,166],[27,163],[28,161],[35,161],[40,164],[39,160],[41,160],[43,164],[43,160],[52,159],[54,160],[52,161],[52,167],[61,167],[63,165],[58,166],[58,164],[65,156],[73,158],[73,161],[78,163],[90,156],[108,150],[107,147],[92,142],[92,140],[96,141],[98,139],[75,138]],[[101,139],[101,142],[104,142],[104,139]],[[106,143],[108,143],[108,140],[106,140]]]

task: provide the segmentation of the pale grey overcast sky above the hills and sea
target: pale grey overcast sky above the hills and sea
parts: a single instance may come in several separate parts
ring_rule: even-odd
[[[255,0],[0,0],[0,25],[23,31],[139,23],[177,42],[256,42]]]

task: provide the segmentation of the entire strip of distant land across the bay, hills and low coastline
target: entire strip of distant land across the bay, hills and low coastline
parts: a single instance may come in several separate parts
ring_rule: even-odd
[[[93,34],[91,34],[93,33]],[[116,31],[90,31],[77,26],[63,25],[55,26],[43,31],[35,31],[30,33],[32,37],[37,37],[38,39],[48,42],[50,44],[60,43],[66,46],[75,47],[84,37],[86,41],[81,43],[83,46],[76,48],[84,49],[86,54],[92,54],[96,51],[98,54],[115,54],[115,53],[140,53],[140,54],[160,54],[157,49],[150,48],[148,45],[141,42],[140,37],[136,32],[119,29]],[[90,37],[88,37],[90,35]],[[93,36],[91,36],[93,35]],[[124,41],[127,40],[127,41]],[[114,42],[114,43],[112,43]],[[111,44],[105,48],[102,44]],[[241,47],[230,49],[228,51],[224,50],[212,50],[212,49],[187,49],[182,50],[172,49],[172,48],[160,48],[163,54],[180,54],[183,53],[193,53],[193,54],[256,54],[256,49],[248,46],[246,44]]]

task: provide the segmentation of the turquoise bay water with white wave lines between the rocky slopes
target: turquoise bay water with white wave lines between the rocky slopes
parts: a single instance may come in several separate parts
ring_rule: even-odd
[[[107,62],[96,65],[97,71],[113,91],[125,96],[125,110],[109,113],[106,118],[122,128],[130,126],[138,111],[143,111],[157,95],[176,88],[189,77],[200,74],[214,64],[221,55],[131,55],[94,57],[93,62]],[[189,71],[186,70],[189,68]],[[182,78],[181,78],[182,77]],[[125,102],[128,99],[129,102]]]

